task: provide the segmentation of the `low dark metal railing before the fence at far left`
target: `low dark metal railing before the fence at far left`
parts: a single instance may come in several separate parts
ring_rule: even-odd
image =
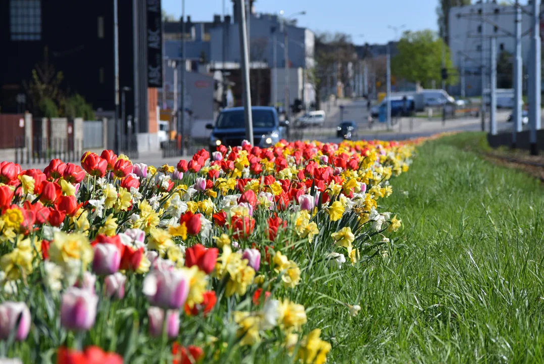
[[[61,138],[15,138],[15,163],[48,163],[53,158],[63,162],[79,162],[83,149],[82,140]]]

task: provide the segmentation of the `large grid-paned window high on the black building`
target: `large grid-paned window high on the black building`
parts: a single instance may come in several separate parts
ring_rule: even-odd
[[[41,40],[41,1],[10,0],[11,40]]]

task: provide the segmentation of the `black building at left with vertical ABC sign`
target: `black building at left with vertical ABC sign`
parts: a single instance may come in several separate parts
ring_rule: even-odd
[[[113,0],[2,0],[1,111],[17,111],[17,95],[26,94],[24,84],[45,60],[63,73],[65,94],[115,110],[114,29]],[[139,133],[156,133],[148,88],[162,84],[160,0],[118,0],[118,29],[119,89],[130,88],[126,115]]]

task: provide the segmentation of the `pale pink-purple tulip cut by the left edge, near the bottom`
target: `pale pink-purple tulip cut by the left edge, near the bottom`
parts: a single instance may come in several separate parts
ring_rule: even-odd
[[[25,340],[30,330],[30,321],[30,310],[25,303],[5,301],[0,305],[0,340],[6,340],[14,331],[16,341]]]

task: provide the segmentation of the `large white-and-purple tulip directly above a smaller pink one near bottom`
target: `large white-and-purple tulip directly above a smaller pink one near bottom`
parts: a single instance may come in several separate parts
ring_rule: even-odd
[[[153,270],[144,278],[142,292],[153,306],[180,309],[189,294],[190,277],[181,270]]]

